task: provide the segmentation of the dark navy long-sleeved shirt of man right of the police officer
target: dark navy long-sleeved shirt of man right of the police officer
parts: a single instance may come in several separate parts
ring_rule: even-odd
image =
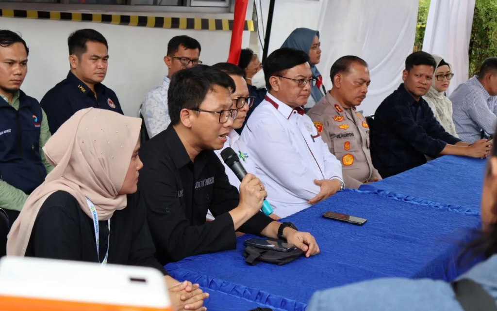
[[[428,103],[418,101],[402,83],[374,114],[370,126],[371,158],[383,178],[426,163],[425,155],[437,157],[447,144],[459,138],[438,123]]]

